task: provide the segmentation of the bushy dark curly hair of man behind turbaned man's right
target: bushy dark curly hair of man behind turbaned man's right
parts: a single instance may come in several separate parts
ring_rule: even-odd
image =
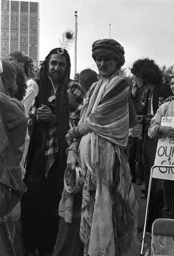
[[[144,82],[151,84],[162,83],[163,74],[153,59],[138,59],[130,71],[135,76],[140,76]]]

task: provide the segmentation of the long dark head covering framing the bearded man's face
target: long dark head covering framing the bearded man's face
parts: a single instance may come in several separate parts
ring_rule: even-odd
[[[70,116],[70,104],[69,104],[69,98],[68,98],[68,83],[70,81],[70,71],[71,71],[71,62],[70,62],[70,56],[67,52],[67,50],[64,49],[64,52],[62,55],[67,59],[67,69],[66,69],[66,76],[63,81],[61,81],[60,86],[58,86],[56,91],[56,98],[55,98],[55,104],[53,107],[52,103],[48,101],[48,98],[51,96],[51,88],[52,83],[51,80],[48,77],[48,66],[49,66],[49,58],[52,54],[58,54],[58,51],[61,51],[61,48],[55,48],[53,49],[45,58],[44,62],[41,65],[40,69],[40,87],[39,92],[37,95],[36,100],[36,107],[38,108],[41,106],[41,104],[48,105],[53,113],[57,116],[57,120],[59,125],[57,125],[57,141],[58,141],[58,147],[59,152],[58,159],[61,159],[64,157],[64,152],[66,151],[67,143],[66,143],[66,134],[69,130],[69,116]],[[47,124],[44,124],[45,129],[49,126]],[[45,130],[47,131],[47,130]],[[47,134],[45,134],[47,136]],[[64,168],[64,167],[62,167]]]

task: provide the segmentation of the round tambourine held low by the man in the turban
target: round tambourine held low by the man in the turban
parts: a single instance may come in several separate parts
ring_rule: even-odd
[[[83,183],[83,174],[81,167],[75,167],[71,170],[69,167],[64,172],[64,188],[70,194],[75,194],[81,190]]]

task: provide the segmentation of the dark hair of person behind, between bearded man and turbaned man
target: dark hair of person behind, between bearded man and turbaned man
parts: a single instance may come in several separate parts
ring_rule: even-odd
[[[92,84],[97,81],[98,75],[94,70],[84,69],[80,72],[79,83],[85,93],[88,92]]]

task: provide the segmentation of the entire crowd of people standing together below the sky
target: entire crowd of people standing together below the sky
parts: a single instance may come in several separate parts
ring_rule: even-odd
[[[1,256],[138,251],[143,227],[133,183],[145,184],[146,198],[158,139],[174,137],[174,127],[161,126],[163,116],[173,116],[174,75],[142,58],[125,79],[124,54],[115,39],[95,41],[98,73],[85,69],[74,80],[64,46],[51,50],[37,70],[21,51],[0,59],[0,188],[9,182],[9,193],[20,191],[7,210],[0,197]],[[77,167],[82,182],[71,193],[64,173],[72,185]],[[162,185],[153,179],[149,231],[155,219],[174,218],[173,182]]]

